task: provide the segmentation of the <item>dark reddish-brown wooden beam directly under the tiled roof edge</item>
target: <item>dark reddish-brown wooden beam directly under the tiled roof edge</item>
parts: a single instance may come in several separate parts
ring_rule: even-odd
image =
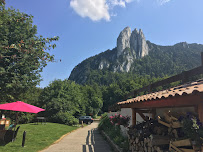
[[[121,108],[137,108],[137,109],[150,109],[150,108],[167,108],[167,107],[189,107],[202,103],[203,93],[197,93],[185,96],[175,96],[166,99],[157,99],[151,101],[141,101],[129,104],[120,105]]]

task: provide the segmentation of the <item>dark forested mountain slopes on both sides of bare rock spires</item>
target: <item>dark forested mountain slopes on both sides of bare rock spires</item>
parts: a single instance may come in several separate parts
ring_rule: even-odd
[[[111,68],[111,65],[116,64],[114,62],[108,69],[98,69],[102,60],[109,60],[113,56],[116,52],[115,48],[84,60],[73,69],[69,79],[79,84],[93,84],[95,82],[99,85],[109,85],[112,82],[119,83],[120,77],[122,77],[120,74],[128,75],[126,77],[134,77],[132,75],[164,77],[192,69],[201,63],[201,52],[203,52],[201,44],[183,42],[174,46],[159,46],[149,41],[147,43],[150,49],[149,55],[135,60],[128,73],[114,72]],[[121,56],[120,60],[122,60]]]

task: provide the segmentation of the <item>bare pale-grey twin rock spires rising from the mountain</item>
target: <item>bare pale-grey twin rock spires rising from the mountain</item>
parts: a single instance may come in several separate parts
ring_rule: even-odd
[[[130,27],[121,31],[117,38],[117,59],[113,67],[114,72],[129,72],[135,59],[140,59],[149,53],[149,47],[142,30],[135,29],[131,33]],[[108,68],[109,64],[101,62],[99,69]]]

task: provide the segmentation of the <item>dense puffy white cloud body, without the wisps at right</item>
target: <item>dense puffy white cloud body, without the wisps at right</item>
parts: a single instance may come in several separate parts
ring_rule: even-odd
[[[110,21],[106,0],[71,0],[70,6],[81,17],[89,17],[93,21],[101,19]]]

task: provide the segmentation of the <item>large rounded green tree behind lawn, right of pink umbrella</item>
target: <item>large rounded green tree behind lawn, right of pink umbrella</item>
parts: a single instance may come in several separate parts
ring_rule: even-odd
[[[68,80],[53,81],[44,88],[40,100],[39,105],[46,109],[44,115],[49,118],[59,111],[75,117],[85,112],[80,86]]]

